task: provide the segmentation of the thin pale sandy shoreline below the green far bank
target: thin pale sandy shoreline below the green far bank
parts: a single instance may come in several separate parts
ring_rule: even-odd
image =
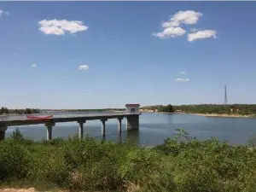
[[[154,112],[154,111],[141,111],[142,113],[167,113],[167,112]],[[219,114],[219,113],[185,113],[185,112],[172,112],[172,113],[180,113],[180,114],[194,114],[198,116],[205,116],[205,117],[224,117],[224,118],[255,118],[255,114],[248,114],[248,115],[241,115],[241,114]],[[170,114],[172,114],[170,113]]]

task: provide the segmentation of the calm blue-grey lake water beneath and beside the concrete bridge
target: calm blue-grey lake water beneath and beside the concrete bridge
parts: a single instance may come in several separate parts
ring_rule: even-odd
[[[106,140],[113,142],[133,142],[141,146],[155,146],[164,142],[167,137],[175,137],[176,129],[183,128],[189,136],[205,140],[217,137],[233,145],[244,145],[252,137],[256,137],[256,119],[203,117],[193,114],[161,114],[143,113],[140,116],[138,131],[125,130],[126,119],[122,121],[122,134],[118,133],[117,119],[106,122]],[[46,137],[44,125],[25,125],[9,127],[6,136],[19,128],[25,137],[42,140]],[[87,121],[84,124],[84,137],[102,139],[100,120]],[[58,123],[53,127],[53,137],[69,137],[79,132],[76,122]]]

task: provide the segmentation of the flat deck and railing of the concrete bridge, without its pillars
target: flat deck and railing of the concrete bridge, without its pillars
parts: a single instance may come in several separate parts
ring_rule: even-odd
[[[15,125],[36,125],[45,124],[48,122],[71,122],[79,120],[96,120],[96,119],[118,119],[129,116],[140,115],[140,113],[62,113],[54,114],[51,119],[27,119],[26,115],[7,115],[0,117],[0,125],[15,126]]]

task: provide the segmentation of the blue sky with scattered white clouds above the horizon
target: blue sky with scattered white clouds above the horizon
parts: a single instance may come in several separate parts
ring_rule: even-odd
[[[0,3],[0,106],[255,103],[255,2]]]

